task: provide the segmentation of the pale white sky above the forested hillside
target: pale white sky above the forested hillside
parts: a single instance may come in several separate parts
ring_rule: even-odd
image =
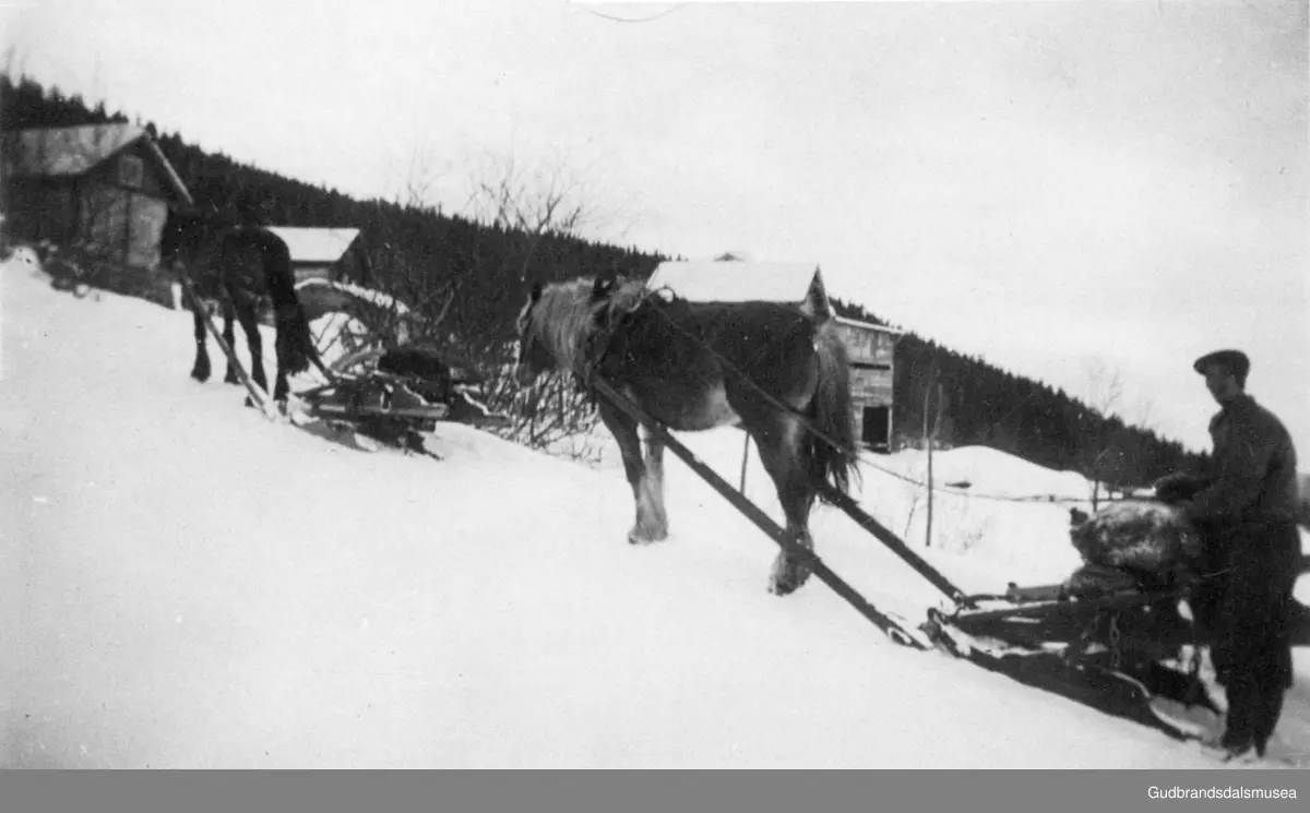
[[[51,0],[0,33],[45,84],[360,196],[419,156],[457,211],[474,156],[562,153],[599,238],[814,261],[1073,394],[1100,360],[1195,449],[1191,363],[1242,347],[1305,457],[1306,8]]]

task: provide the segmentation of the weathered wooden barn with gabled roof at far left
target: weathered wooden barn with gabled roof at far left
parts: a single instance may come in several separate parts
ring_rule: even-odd
[[[5,132],[0,170],[10,238],[127,268],[156,267],[169,203],[190,203],[151,132],[135,124]]]

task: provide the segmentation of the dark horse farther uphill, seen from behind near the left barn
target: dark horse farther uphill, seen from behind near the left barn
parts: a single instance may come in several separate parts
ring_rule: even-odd
[[[236,352],[232,318],[241,322],[250,351],[250,378],[263,391],[269,382],[263,374],[263,340],[259,335],[259,312],[267,300],[276,327],[278,381],[272,399],[287,399],[287,376],[309,369],[316,360],[309,321],[296,296],[296,279],[291,268],[291,251],[280,237],[252,223],[199,211],[170,209],[160,236],[160,259],[165,267],[182,263],[202,298],[220,302],[223,339]],[[204,330],[202,301],[191,300],[195,316],[195,365],[191,377],[210,378],[210,352]],[[238,384],[232,361],[224,377]]]

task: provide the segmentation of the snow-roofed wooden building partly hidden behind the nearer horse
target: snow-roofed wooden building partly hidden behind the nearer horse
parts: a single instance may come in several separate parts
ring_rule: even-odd
[[[832,319],[850,353],[853,418],[862,445],[889,452],[892,381],[900,331],[836,314],[817,263],[753,262],[724,255],[714,261],[660,263],[647,288],[667,288],[698,302],[789,302],[820,321]]]

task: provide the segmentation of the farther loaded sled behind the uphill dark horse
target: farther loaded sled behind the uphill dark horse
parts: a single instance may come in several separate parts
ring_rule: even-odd
[[[367,350],[333,365],[331,381],[299,393],[305,411],[334,425],[409,450],[438,422],[477,427],[508,419],[477,398],[481,377],[428,347]]]

